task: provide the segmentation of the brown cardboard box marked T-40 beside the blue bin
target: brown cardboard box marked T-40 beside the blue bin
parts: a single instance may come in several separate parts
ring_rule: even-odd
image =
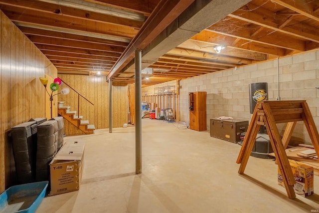
[[[84,166],[85,140],[66,142],[50,163],[49,196],[77,191]]]

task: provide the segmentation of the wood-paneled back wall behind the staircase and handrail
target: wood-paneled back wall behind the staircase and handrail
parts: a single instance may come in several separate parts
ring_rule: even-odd
[[[109,83],[105,76],[84,76],[59,74],[59,78],[65,81],[73,89],[86,97],[92,104],[80,97],[80,111],[78,110],[78,94],[72,89],[68,95],[58,95],[59,101],[64,101],[64,106],[70,106],[71,111],[80,112],[83,120],[89,120],[96,129],[109,128]],[[61,86],[66,87],[65,84]],[[122,127],[128,123],[128,85],[125,83],[113,83],[112,85],[112,125],[114,128]],[[66,135],[83,134],[75,126],[65,121]]]

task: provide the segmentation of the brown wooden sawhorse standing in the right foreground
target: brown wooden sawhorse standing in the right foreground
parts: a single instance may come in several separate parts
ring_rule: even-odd
[[[261,125],[266,125],[276,161],[282,173],[285,188],[290,199],[296,198],[296,183],[285,149],[289,143],[297,121],[304,121],[317,155],[319,156],[319,134],[305,100],[300,101],[258,101],[246,132],[236,163],[240,164],[239,174],[243,174],[256,136]],[[283,138],[276,124],[287,123]]]

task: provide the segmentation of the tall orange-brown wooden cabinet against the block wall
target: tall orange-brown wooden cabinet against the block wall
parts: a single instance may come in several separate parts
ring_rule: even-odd
[[[207,130],[206,92],[189,93],[189,128],[197,131]]]

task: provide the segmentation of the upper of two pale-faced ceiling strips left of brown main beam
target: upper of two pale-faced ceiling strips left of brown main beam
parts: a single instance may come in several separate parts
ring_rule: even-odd
[[[88,10],[92,12],[98,12],[106,15],[113,15],[116,17],[122,17],[132,20],[145,21],[146,17],[138,12],[119,9],[111,6],[106,6],[94,2],[88,2],[86,0],[39,0],[48,3],[59,4],[77,9]]]

